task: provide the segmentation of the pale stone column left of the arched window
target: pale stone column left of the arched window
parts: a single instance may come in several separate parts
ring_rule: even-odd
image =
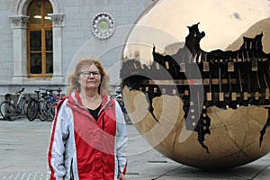
[[[13,82],[23,82],[27,78],[27,43],[26,25],[29,16],[14,15],[9,16],[11,28],[14,34],[14,75]]]

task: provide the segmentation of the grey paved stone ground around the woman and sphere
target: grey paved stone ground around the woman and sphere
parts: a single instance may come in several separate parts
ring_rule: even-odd
[[[51,122],[40,120],[0,121],[0,180],[48,179],[46,171],[50,126]],[[246,166],[223,171],[204,171],[175,163],[162,156],[139,136],[133,125],[127,127],[129,133],[127,179],[270,179],[270,154]]]

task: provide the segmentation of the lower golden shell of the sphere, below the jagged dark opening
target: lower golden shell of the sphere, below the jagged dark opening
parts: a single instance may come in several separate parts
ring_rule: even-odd
[[[140,134],[166,157],[188,166],[222,168],[241,166],[265,156],[270,150],[270,129],[259,148],[260,130],[265,125],[267,110],[262,107],[239,107],[221,110],[211,107],[211,134],[205,136],[206,152],[198,134],[185,129],[183,102],[177,96],[162,95],[153,101],[155,121],[148,112],[144,94],[123,88],[123,98],[130,119]],[[187,137],[186,139],[184,139]],[[184,140],[183,140],[184,139]]]

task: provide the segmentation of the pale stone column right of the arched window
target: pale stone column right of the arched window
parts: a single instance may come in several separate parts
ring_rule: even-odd
[[[64,14],[48,14],[52,21],[53,33],[53,75],[51,81],[63,82],[62,28]]]

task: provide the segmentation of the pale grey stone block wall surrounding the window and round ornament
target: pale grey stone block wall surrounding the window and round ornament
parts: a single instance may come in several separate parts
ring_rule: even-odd
[[[13,81],[14,60],[20,62],[22,59],[14,59],[14,54],[19,53],[18,50],[20,49],[14,49],[14,29],[10,23],[10,16],[22,15],[18,14],[18,12],[20,13],[20,11],[18,11],[20,8],[18,7],[20,7],[20,5],[23,6],[23,4],[29,4],[30,0],[1,0],[0,100],[2,95],[14,93],[22,87],[25,87],[25,89],[28,89],[30,92],[38,87],[59,86],[65,88],[67,85],[67,75],[74,67],[73,65],[76,63],[76,60],[85,56],[101,58],[103,66],[108,71],[111,71],[109,75],[111,76],[113,91],[120,83],[119,68],[124,41],[132,24],[135,23],[139,17],[139,14],[141,14],[149,4],[152,4],[153,1],[54,0],[50,2],[54,3],[54,8],[58,10],[58,14],[64,15],[61,29],[62,46],[60,47],[62,49],[62,64],[58,64],[58,66],[62,67],[62,80],[54,81],[52,79],[28,78],[26,76],[22,81]],[[112,36],[106,40],[95,38],[91,31],[91,23],[94,16],[99,13],[110,14],[115,22],[115,31]],[[22,66],[22,68],[25,67],[25,65]],[[20,67],[17,67],[17,69],[20,69]],[[25,72],[25,69],[23,70]]]

